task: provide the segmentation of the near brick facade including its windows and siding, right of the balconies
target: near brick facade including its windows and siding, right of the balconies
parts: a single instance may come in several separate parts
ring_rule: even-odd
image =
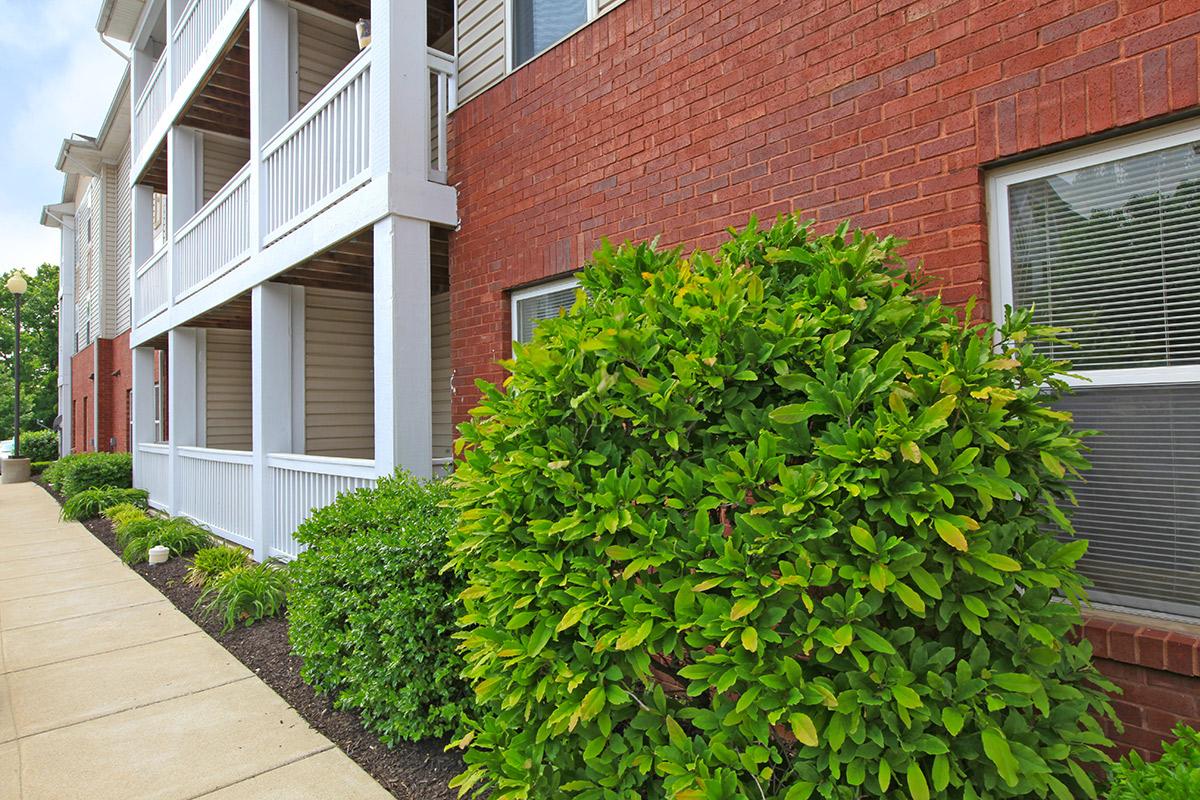
[[[574,301],[563,278],[601,236],[707,247],[750,215],[797,211],[905,237],[907,258],[952,302],[1037,301],[1080,323],[1075,357],[1096,385],[1073,410],[1111,443],[1093,444],[1078,513],[1096,534],[1085,569],[1104,601],[1086,636],[1126,687],[1121,742],[1153,751],[1175,720],[1195,723],[1200,628],[1187,619],[1200,615],[1200,391],[1189,381],[1200,380],[1200,260],[1178,239],[1200,222],[1180,199],[1200,181],[1195,0],[628,0],[599,10],[580,0],[563,5],[587,24],[566,25],[576,32],[528,60],[516,53],[521,14],[536,23],[565,12],[534,4],[494,23],[503,5],[460,6],[455,420],[478,398],[474,379],[502,378],[512,338]],[[496,30],[512,40],[508,52]],[[1122,197],[1104,194],[1114,170],[1128,175]],[[1022,251],[1030,236],[1055,235],[1039,219],[1062,228],[1045,203],[1031,216],[1032,196],[1111,210],[1144,196],[1146,181],[1174,198],[1158,215],[1175,233],[1126,225],[1105,243],[1117,257],[1130,236],[1164,249],[1126,271],[1174,282],[1178,301],[1156,301],[1062,236],[1057,263]],[[1063,259],[1082,259],[1094,277],[1067,277]],[[1169,317],[1165,332],[1140,329],[1112,297]],[[1088,326],[1087,314],[1111,321]],[[1122,355],[1105,327],[1153,347]],[[1130,447],[1145,449],[1144,463],[1122,459]],[[1147,578],[1156,563],[1166,566]]]

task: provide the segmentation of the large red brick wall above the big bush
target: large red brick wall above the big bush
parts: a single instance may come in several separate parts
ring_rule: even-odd
[[[985,297],[980,166],[1196,110],[1198,32],[1196,0],[626,0],[454,115],[455,417],[505,290],[601,236],[853,217]]]

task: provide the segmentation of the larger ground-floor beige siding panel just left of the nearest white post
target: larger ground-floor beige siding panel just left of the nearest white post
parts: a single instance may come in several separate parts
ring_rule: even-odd
[[[305,452],[374,458],[370,294],[305,289]]]

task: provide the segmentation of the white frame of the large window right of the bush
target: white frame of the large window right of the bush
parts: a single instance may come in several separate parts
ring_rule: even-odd
[[[1094,167],[1110,161],[1140,156],[1156,150],[1192,144],[1200,139],[1200,120],[1188,120],[1130,133],[1116,139],[1072,148],[1064,152],[1001,167],[988,175],[988,239],[991,313],[1004,319],[1004,306],[1013,305],[1013,253],[1009,245],[1008,188],[1014,184],[1049,178],[1060,173]],[[1080,378],[1068,378],[1075,386],[1142,386],[1200,381],[1200,365],[1177,367],[1130,367],[1126,369],[1079,369]]]

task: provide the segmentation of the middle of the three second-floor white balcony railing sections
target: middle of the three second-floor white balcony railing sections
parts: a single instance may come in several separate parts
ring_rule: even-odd
[[[250,164],[229,179],[175,234],[175,300],[250,258]]]

